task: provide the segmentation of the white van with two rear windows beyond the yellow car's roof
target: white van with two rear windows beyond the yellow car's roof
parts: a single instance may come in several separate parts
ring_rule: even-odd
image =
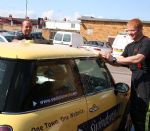
[[[84,40],[79,33],[57,31],[53,39],[53,44],[68,45],[79,48],[84,44]]]

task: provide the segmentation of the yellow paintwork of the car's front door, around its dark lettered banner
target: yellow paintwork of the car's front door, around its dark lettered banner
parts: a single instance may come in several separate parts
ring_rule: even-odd
[[[117,104],[121,104],[121,109],[119,110],[120,117],[114,121],[111,125],[109,125],[104,131],[114,131],[119,127],[123,112],[125,110],[128,99],[125,99],[123,95],[115,95],[114,90],[108,90],[102,93],[98,93],[95,96],[87,97],[88,109],[92,107],[92,104],[95,103],[99,108],[96,112],[88,112],[88,118],[92,119],[99,114],[102,114],[108,109],[116,106]]]

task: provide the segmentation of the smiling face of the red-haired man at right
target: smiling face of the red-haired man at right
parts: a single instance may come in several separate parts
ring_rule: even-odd
[[[134,41],[138,40],[142,35],[142,31],[133,25],[127,25],[127,32]]]

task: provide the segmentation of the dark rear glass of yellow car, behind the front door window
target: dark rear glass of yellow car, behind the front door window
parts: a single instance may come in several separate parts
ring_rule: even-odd
[[[30,111],[82,95],[74,61],[48,61],[0,59],[1,112]]]

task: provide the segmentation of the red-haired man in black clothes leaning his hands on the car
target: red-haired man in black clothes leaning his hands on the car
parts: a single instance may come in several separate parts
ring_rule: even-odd
[[[133,42],[125,47],[121,56],[114,58],[105,52],[100,56],[112,65],[130,68],[132,72],[130,115],[135,131],[145,131],[150,101],[150,39],[143,35],[143,23],[137,18],[127,23],[127,32]]]

